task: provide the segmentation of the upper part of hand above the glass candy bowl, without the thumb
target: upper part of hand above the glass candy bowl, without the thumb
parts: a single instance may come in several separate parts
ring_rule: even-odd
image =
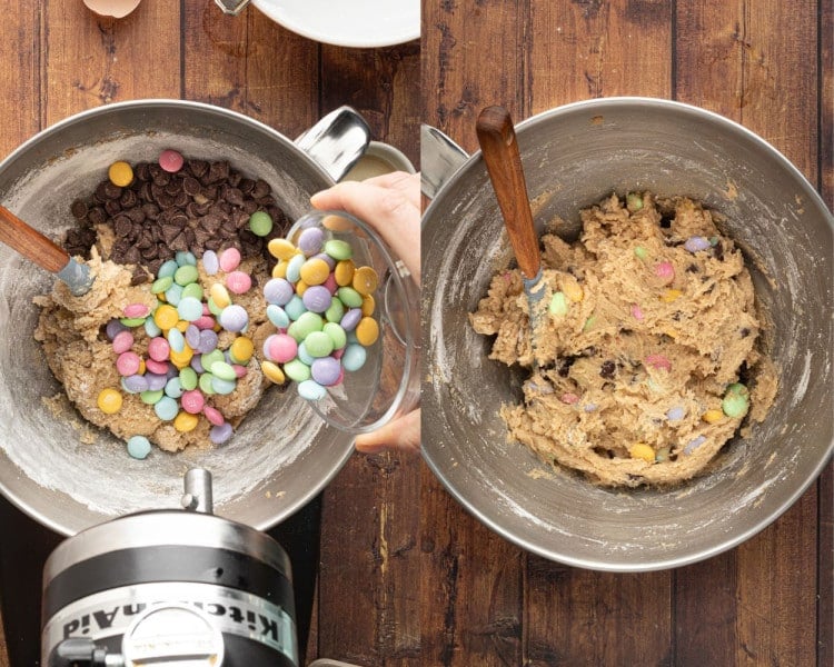
[[[420,175],[395,171],[344,181],[310,198],[317,209],[342,210],[370,225],[420,283]]]

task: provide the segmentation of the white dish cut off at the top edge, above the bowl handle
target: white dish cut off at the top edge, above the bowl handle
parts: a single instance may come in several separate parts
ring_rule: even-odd
[[[399,44],[420,36],[420,0],[252,0],[288,30],[337,47]]]

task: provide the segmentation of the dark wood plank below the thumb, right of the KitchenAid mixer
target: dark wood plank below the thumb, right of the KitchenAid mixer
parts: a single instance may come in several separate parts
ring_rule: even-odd
[[[317,657],[418,658],[418,466],[413,455],[355,455],[325,491]]]

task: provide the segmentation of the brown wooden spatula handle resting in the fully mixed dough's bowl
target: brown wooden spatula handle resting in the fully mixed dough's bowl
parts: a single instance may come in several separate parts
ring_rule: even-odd
[[[533,279],[542,259],[513,119],[504,107],[487,107],[475,129],[518,267]]]

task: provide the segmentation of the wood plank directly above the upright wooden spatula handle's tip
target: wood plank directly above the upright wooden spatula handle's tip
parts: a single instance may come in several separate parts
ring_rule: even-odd
[[[528,116],[522,94],[527,4],[424,2],[423,120],[469,152],[478,146],[475,120],[481,108],[503,104],[514,119]]]

